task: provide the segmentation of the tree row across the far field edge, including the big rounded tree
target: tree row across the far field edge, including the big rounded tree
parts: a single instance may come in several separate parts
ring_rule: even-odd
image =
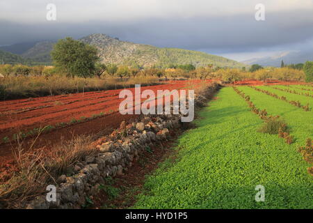
[[[138,67],[118,66],[115,64],[99,63],[97,49],[72,38],[59,40],[51,52],[54,67],[45,66],[0,66],[3,75],[54,75],[61,74],[68,77],[184,77],[195,79],[222,79],[225,82],[236,82],[241,79],[280,79],[313,81],[313,62],[306,62],[303,66],[290,65],[282,68],[263,68],[254,64],[248,71],[246,69],[195,68],[192,64],[171,65],[168,69],[152,68],[141,69]],[[303,70],[299,69],[303,67]]]

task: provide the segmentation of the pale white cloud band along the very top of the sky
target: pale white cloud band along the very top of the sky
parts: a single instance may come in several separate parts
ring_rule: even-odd
[[[56,4],[58,22],[254,15],[257,3],[263,3],[267,13],[313,10],[312,0],[1,0],[0,19],[21,23],[46,22],[48,3]]]

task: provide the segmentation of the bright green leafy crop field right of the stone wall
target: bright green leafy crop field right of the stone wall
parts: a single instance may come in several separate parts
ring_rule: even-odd
[[[282,116],[294,143],[258,132],[262,119],[225,87],[202,109],[197,128],[179,137],[175,160],[147,177],[133,208],[313,208],[307,173],[312,164],[298,153],[298,146],[313,137],[312,112],[247,86],[239,90],[268,115]],[[264,201],[255,200],[257,185],[265,188]]]

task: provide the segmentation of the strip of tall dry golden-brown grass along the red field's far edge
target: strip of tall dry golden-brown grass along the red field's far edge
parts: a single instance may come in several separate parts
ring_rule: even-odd
[[[47,95],[61,95],[66,93],[83,93],[87,91],[102,91],[111,89],[123,89],[134,84],[156,84],[158,79],[154,77],[120,78],[81,78],[65,77],[61,75],[51,76],[17,76],[1,78],[0,99],[30,98]]]

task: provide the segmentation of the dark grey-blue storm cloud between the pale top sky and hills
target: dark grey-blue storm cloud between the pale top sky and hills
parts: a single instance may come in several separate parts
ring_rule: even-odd
[[[312,10],[266,13],[257,22],[255,10],[223,16],[146,17],[88,22],[0,22],[0,45],[33,40],[81,38],[106,33],[121,40],[159,47],[179,47],[216,53],[252,52],[268,48],[303,47],[313,38]]]

